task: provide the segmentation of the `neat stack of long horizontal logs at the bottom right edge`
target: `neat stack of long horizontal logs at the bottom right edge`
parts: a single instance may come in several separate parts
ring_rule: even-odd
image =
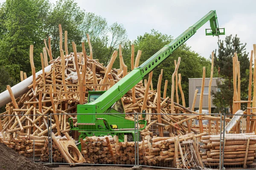
[[[223,138],[221,138],[222,140]],[[224,148],[224,166],[225,165],[246,165],[252,164],[256,156],[256,135],[254,133],[244,134],[225,134],[224,141],[221,142],[220,136],[202,136],[202,149],[206,149],[202,156],[205,165],[218,166],[220,160],[220,151]],[[224,145],[224,147],[223,147]]]

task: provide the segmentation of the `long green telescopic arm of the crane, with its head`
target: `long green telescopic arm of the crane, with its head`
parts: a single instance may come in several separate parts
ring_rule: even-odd
[[[206,35],[219,36],[225,34],[224,28],[218,27],[218,20],[215,11],[209,11],[193,26],[189,27],[180,36],[173,40],[170,44],[165,45],[157,51],[152,57],[147,59],[142,65],[134,68],[129,74],[113,85],[108,91],[99,96],[94,102],[85,104],[86,108],[90,108],[89,113],[105,113],[117,100],[125,95],[131,88],[140,82],[147,74],[156,68],[161,62],[168,58],[186,40],[192,37],[196,31],[210,21],[210,29],[206,29]],[[209,31],[209,32],[208,32]],[[84,108],[84,107],[83,107]],[[88,110],[88,111],[89,111]]]

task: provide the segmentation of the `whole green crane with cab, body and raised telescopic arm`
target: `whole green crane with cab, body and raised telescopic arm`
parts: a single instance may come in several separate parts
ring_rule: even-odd
[[[121,97],[143,80],[147,74],[169,57],[180,45],[192,37],[207,21],[210,21],[211,28],[206,29],[206,35],[219,36],[225,34],[225,29],[218,27],[216,12],[209,11],[208,14],[180,34],[170,44],[165,45],[139,67],[134,68],[133,71],[113,85],[108,91],[90,91],[88,103],[77,105],[77,118],[70,118],[69,120],[71,130],[79,130],[79,138],[94,135],[116,135],[119,136],[120,141],[123,141],[126,134],[128,135],[128,140],[134,140],[134,121],[125,119],[125,114],[118,114],[125,113],[120,100]],[[73,119],[77,119],[76,127],[73,125]],[[138,123],[144,125],[143,128],[139,129],[140,131],[145,128],[147,122],[140,120]]]

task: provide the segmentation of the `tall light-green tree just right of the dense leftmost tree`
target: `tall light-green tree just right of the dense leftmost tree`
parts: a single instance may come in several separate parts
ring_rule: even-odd
[[[84,18],[84,11],[77,6],[74,0],[58,0],[52,7],[52,10],[47,18],[46,22],[46,37],[52,38],[52,56],[57,58],[60,55],[59,47],[59,28],[58,24],[61,24],[63,30],[68,34],[68,49],[73,51],[72,41],[77,44],[77,51],[81,51],[81,40],[83,39],[83,32],[81,31],[82,22]],[[64,49],[64,43],[63,43]]]

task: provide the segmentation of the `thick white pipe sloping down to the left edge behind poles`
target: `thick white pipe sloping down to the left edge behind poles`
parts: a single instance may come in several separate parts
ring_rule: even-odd
[[[44,68],[45,72],[49,72],[51,70],[51,65],[48,65],[46,68]],[[43,71],[40,70],[35,74],[35,77],[38,77],[38,75],[42,74]],[[17,85],[14,85],[12,87],[12,93],[15,96],[15,99],[20,96],[25,94],[26,92],[29,91],[28,86],[33,83],[33,76],[28,77],[27,79],[24,79],[22,82],[19,82]],[[7,103],[12,102],[11,96],[8,92],[8,90],[2,92],[0,94],[0,107],[3,107]]]

